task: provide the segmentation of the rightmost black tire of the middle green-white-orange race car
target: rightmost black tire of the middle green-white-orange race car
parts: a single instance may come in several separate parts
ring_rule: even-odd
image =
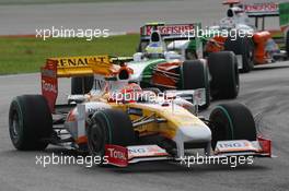
[[[210,93],[213,99],[235,98],[239,94],[239,70],[231,51],[212,52],[208,57],[211,75]]]

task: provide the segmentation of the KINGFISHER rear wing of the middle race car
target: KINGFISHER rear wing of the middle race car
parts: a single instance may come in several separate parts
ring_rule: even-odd
[[[149,23],[140,27],[140,38],[141,40],[150,40],[150,35],[152,31],[158,29],[164,40],[187,39],[188,35],[190,37],[194,37],[195,31],[200,27],[201,27],[200,23],[192,23],[192,24]]]

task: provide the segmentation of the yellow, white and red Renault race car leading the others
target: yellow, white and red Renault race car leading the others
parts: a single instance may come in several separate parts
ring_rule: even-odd
[[[72,95],[70,104],[56,105],[58,79],[90,75],[91,69],[95,79],[106,80],[105,88]],[[91,58],[84,67],[48,59],[42,68],[42,95],[16,96],[11,103],[13,145],[20,151],[45,150],[48,144],[88,150],[122,167],[143,160],[177,160],[193,148],[216,157],[270,156],[270,141],[257,136],[245,106],[223,104],[204,119],[197,116],[197,105],[206,100],[204,89],[166,92],[150,99],[147,95],[153,92],[129,83],[132,72],[124,64],[113,64],[107,56]]]

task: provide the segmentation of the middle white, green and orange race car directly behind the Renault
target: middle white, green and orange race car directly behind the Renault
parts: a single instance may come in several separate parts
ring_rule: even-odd
[[[198,23],[149,23],[140,27],[138,52],[130,60],[123,60],[134,70],[130,81],[143,88],[161,91],[205,88],[207,102],[201,109],[209,106],[210,97],[235,98],[240,84],[236,57],[231,51],[222,51],[205,59],[200,38],[192,36],[187,40],[187,33],[197,26]],[[187,51],[190,47],[194,51]],[[82,89],[88,93],[92,81],[92,77],[73,77],[72,94],[80,94]]]

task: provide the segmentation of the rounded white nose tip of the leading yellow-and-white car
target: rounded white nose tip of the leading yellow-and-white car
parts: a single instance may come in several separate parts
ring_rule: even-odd
[[[211,141],[211,131],[205,124],[180,127],[175,139],[190,143],[209,142]]]

